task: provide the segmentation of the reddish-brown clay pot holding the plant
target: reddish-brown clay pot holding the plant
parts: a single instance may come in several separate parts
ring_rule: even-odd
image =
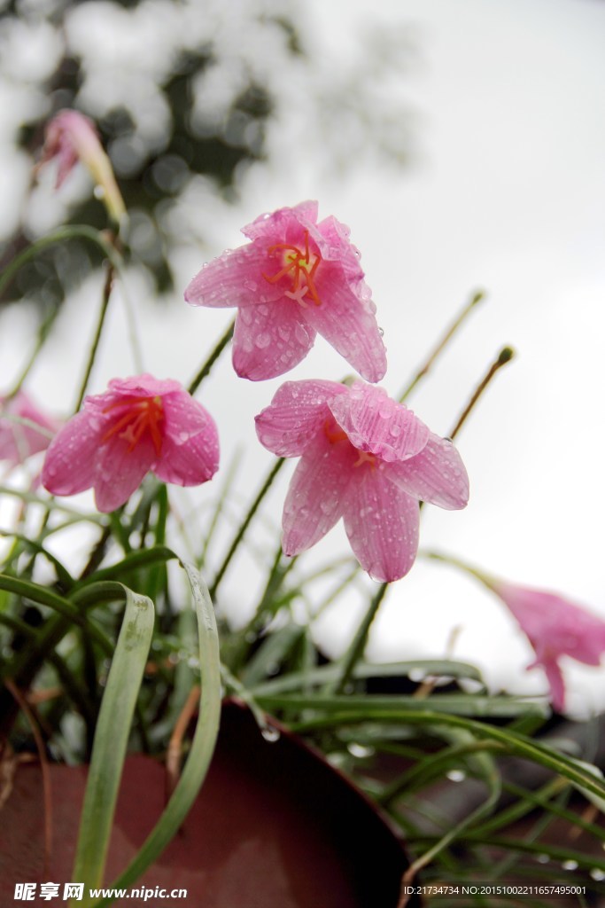
[[[78,882],[71,873],[86,767],[50,770],[50,866],[43,866],[40,768],[21,765],[0,812],[0,904],[14,903],[15,883],[61,883],[62,896],[64,883]],[[129,756],[106,883],[129,863],[164,803],[162,765]],[[171,904],[190,908],[395,908],[406,866],[394,832],[343,775],[296,735],[266,740],[248,710],[231,702],[196,803],[132,888],[186,889],[187,898]],[[128,899],[131,908],[160,904],[159,897]]]

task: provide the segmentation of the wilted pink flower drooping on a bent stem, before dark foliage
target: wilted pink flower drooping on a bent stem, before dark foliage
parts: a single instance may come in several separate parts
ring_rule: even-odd
[[[108,212],[116,222],[120,221],[125,211],[124,202],[92,120],[78,111],[64,110],[56,114],[46,126],[41,163],[51,160],[58,163],[57,189],[75,164],[82,161],[96,185],[101,187],[102,201]]]

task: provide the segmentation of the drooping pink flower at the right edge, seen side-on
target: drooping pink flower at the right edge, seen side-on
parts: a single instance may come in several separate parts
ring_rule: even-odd
[[[605,621],[556,593],[482,578],[503,599],[528,637],[536,654],[528,668],[542,666],[551,688],[552,706],[562,712],[565,685],[559,659],[571,656],[588,666],[598,666],[605,650]]]

